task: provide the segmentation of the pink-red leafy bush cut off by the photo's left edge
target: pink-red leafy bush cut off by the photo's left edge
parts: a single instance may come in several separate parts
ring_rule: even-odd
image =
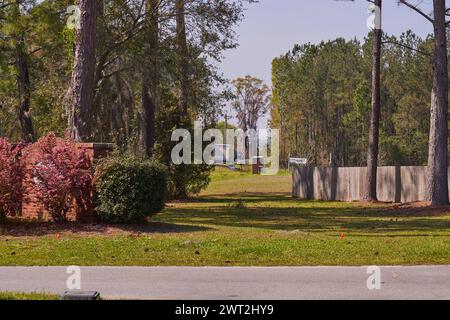
[[[25,167],[20,161],[23,147],[0,139],[0,222],[7,215],[19,213],[24,200]]]

